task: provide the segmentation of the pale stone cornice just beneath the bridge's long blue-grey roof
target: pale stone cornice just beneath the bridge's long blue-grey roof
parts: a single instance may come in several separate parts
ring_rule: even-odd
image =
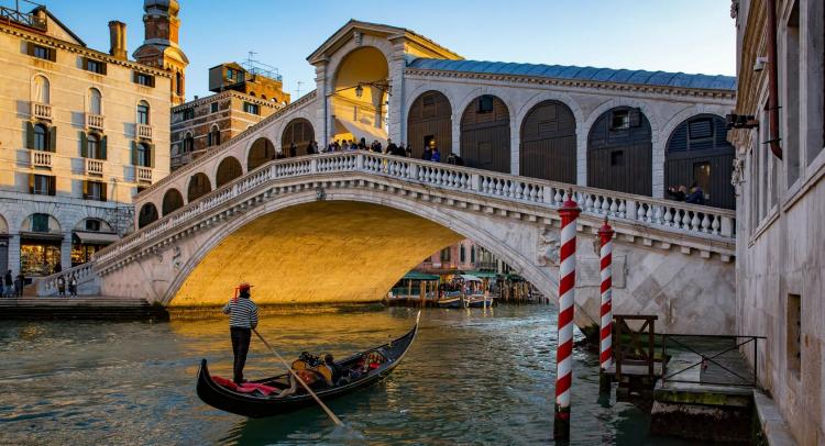
[[[727,99],[727,100],[736,99],[736,91],[734,90],[714,90],[714,89],[696,89],[696,88],[669,87],[669,86],[603,82],[603,81],[581,80],[581,79],[556,79],[556,78],[535,77],[535,76],[451,71],[451,70],[409,68],[409,67],[405,68],[405,74],[409,76],[422,76],[427,78],[438,77],[438,78],[449,78],[449,79],[482,79],[482,80],[492,80],[492,81],[499,81],[499,82],[549,85],[549,86],[565,87],[565,88],[634,91],[634,92],[642,92],[642,93],[652,92],[652,93],[658,93],[658,94],[682,96],[682,97],[691,97],[691,98],[714,98],[714,99]]]

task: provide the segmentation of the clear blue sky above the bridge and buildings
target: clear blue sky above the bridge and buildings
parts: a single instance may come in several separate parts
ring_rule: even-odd
[[[40,3],[91,48],[109,51],[110,20],[127,23],[130,57],[143,41],[142,0]],[[468,59],[733,76],[729,11],[726,0],[180,0],[179,44],[189,100],[209,94],[209,67],[251,51],[297,99],[315,85],[307,56],[350,19],[409,29]]]

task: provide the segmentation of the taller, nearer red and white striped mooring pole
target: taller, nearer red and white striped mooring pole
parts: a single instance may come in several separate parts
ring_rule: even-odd
[[[559,335],[556,347],[556,416],[553,438],[570,438],[570,387],[573,383],[573,306],[575,304],[575,231],[582,212],[573,191],[559,210],[561,253],[559,258]]]

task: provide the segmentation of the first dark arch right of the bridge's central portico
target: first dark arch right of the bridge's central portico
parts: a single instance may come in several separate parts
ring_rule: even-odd
[[[413,102],[407,113],[407,147],[420,158],[424,147],[436,142],[441,156],[452,152],[452,105],[440,91],[426,91]]]

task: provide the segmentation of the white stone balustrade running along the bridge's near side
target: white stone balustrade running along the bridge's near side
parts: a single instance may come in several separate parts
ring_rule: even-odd
[[[387,177],[444,191],[454,190],[547,207],[548,210],[561,207],[572,192],[573,199],[584,214],[609,216],[656,227],[673,232],[678,237],[689,235],[708,242],[733,244],[736,236],[735,213],[729,210],[370,152],[337,152],[270,161],[101,249],[95,255],[95,261],[108,263],[132,248],[148,243],[155,236],[183,231],[197,216],[250,191],[265,191],[272,181],[351,172]]]

